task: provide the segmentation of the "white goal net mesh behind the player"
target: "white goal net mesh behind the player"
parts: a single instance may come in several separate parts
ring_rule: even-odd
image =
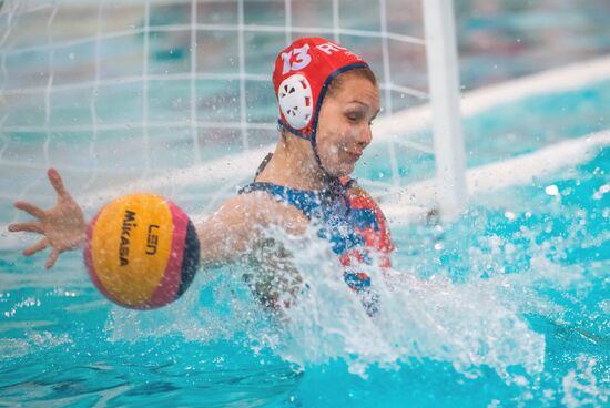
[[[214,207],[276,141],[272,67],[302,35],[364,55],[385,114],[427,99],[420,0],[0,4],[0,224],[14,200],[54,200],[49,166],[93,210],[133,190]],[[370,185],[399,184],[410,147],[379,147]]]

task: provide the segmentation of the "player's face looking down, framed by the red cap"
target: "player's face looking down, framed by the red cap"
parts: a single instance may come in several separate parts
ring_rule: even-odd
[[[323,167],[334,176],[346,176],[370,143],[370,123],[379,112],[379,89],[349,71],[338,89],[322,103],[317,128],[317,152]]]

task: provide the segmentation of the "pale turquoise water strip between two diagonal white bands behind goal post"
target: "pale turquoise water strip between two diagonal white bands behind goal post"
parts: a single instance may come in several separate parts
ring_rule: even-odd
[[[532,95],[518,103],[498,103],[480,114],[466,118],[466,164],[476,167],[569,139],[586,136],[610,128],[610,82],[602,81],[580,89]],[[409,140],[431,145],[429,130],[410,135]],[[434,155],[396,146],[400,183],[416,182],[434,173]],[[356,169],[363,180],[384,181],[393,175],[387,146],[373,143]]]

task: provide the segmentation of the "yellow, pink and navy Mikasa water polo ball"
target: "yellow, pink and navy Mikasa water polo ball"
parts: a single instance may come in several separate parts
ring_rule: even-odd
[[[200,262],[193,223],[154,194],[125,195],[91,221],[84,261],[91,279],[112,302],[148,309],[177,299]]]

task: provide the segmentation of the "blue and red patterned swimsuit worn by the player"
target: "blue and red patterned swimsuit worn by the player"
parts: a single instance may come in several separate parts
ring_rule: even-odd
[[[329,191],[304,191],[272,183],[254,182],[240,193],[264,191],[278,202],[298,208],[307,218],[319,223],[318,236],[331,242],[333,252],[344,265],[344,279],[354,292],[363,296],[370,314],[377,309],[370,292],[370,277],[360,265],[376,261],[382,267],[390,266],[394,249],[386,220],[375,201],[355,180],[343,177]],[[332,192],[331,192],[332,191]]]

